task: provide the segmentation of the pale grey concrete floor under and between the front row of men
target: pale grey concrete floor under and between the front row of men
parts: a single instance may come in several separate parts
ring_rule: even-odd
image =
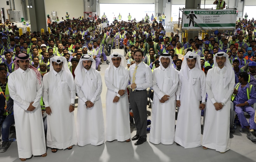
[[[123,50],[115,49],[120,54]],[[106,91],[104,81],[105,69],[108,65],[104,62],[101,67],[102,93],[101,100],[103,106],[104,119],[106,116]],[[148,110],[148,119],[151,119],[151,109]],[[77,113],[77,103],[75,106],[75,118]],[[127,142],[105,142],[100,146],[86,145],[84,147],[74,146],[72,150],[58,150],[52,153],[47,150],[46,157],[32,157],[27,159],[31,162],[252,162],[256,161],[256,142],[247,139],[248,132],[239,132],[239,127],[234,134],[230,134],[231,150],[222,154],[214,150],[203,150],[202,147],[184,149],[181,146],[173,145],[154,145],[147,142],[135,146],[136,141]],[[131,129],[131,137],[136,135],[136,130]],[[15,138],[15,134],[11,135]],[[0,162],[18,162],[17,142],[12,142],[5,153],[0,153]]]

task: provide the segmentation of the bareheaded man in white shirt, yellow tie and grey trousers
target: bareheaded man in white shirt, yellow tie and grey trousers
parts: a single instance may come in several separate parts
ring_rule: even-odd
[[[135,145],[140,145],[146,141],[147,129],[147,91],[152,87],[152,71],[150,67],[142,62],[143,51],[134,51],[135,64],[130,66],[129,75],[131,81],[130,104],[134,114],[136,135],[132,140],[139,139]]]

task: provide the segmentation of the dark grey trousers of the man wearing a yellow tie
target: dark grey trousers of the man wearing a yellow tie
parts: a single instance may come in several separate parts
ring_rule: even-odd
[[[130,104],[137,128],[136,135],[146,138],[147,135],[147,91],[132,91],[130,93]]]

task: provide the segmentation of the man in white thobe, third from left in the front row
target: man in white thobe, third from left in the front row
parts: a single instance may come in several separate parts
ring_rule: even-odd
[[[100,94],[102,81],[91,55],[83,55],[75,68],[75,89],[78,95],[78,146],[104,143],[104,119]]]

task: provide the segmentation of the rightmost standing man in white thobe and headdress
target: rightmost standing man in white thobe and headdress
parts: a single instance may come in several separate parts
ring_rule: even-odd
[[[206,76],[205,124],[203,129],[203,149],[214,149],[224,153],[230,149],[230,100],[234,91],[235,74],[228,59],[228,54],[218,52],[214,55],[215,65]]]

